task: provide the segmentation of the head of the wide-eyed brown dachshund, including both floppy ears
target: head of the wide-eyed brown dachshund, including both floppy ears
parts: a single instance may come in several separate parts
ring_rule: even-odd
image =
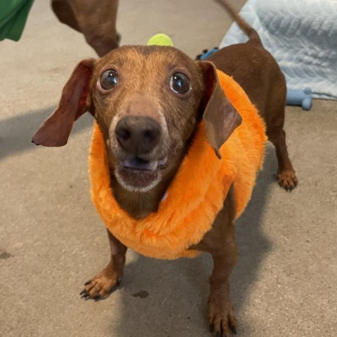
[[[143,192],[177,169],[201,119],[218,157],[241,123],[214,66],[172,47],[124,46],[100,60],[81,61],[33,143],[65,145],[86,111],[100,126],[118,183]]]

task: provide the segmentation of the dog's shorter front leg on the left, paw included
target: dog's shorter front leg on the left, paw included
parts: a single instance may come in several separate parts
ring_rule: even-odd
[[[83,298],[94,300],[106,298],[119,286],[123,277],[126,246],[119,242],[109,230],[107,234],[111,251],[110,263],[102,272],[84,284],[84,290],[80,293]]]

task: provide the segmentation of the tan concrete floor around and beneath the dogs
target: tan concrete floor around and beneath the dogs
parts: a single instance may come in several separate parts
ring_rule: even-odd
[[[230,19],[215,1],[193,3],[121,0],[121,44],[145,44],[161,31],[192,57],[217,46]],[[236,1],[237,8],[242,4]],[[109,256],[89,195],[91,118],[77,122],[66,147],[36,147],[30,138],[55,108],[74,65],[93,55],[43,0],[35,1],[20,42],[0,42],[0,336],[211,336],[206,254],[166,262],[129,251],[119,291],[98,303],[79,297]],[[268,147],[237,222],[238,336],[333,337],[337,103],[315,100],[310,112],[288,107],[286,132],[298,188],[287,193],[277,186]],[[148,295],[136,296],[139,291]]]

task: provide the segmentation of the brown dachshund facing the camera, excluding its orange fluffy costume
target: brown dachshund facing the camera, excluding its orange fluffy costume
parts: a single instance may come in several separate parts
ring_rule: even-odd
[[[258,107],[265,119],[267,135],[277,148],[279,183],[288,189],[295,187],[297,180],[282,128],[284,77],[261,46],[256,32],[242,20],[239,22],[249,34],[249,42],[223,48],[213,55],[213,63],[194,61],[176,48],[164,46],[124,46],[100,60],[80,62],[63,88],[58,109],[32,141],[45,146],[65,145],[74,121],[90,112],[105,150],[103,161],[110,179],[110,198],[116,200],[119,213],[142,221],[160,211],[166,190],[176,180],[180,166],[185,165],[201,125],[218,156],[212,152],[212,160],[219,162],[224,153],[221,149],[227,146],[230,151],[231,141],[241,129],[238,126],[242,118],[220,87],[217,68],[234,76]],[[252,134],[248,141],[253,137]],[[93,147],[91,152],[94,156]],[[244,171],[244,176],[249,174],[255,177],[256,171]],[[209,230],[199,241],[185,247],[187,251],[209,252],[213,257],[209,327],[216,336],[236,333],[229,284],[230,272],[237,261],[236,194],[235,184],[230,185]],[[112,232],[109,227],[110,263],[86,282],[81,292],[85,298],[105,298],[121,281],[124,243],[128,240],[122,243]]]

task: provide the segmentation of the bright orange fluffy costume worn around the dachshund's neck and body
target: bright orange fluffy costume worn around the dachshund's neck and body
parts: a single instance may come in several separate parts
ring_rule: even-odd
[[[132,218],[114,199],[103,136],[98,124],[94,125],[89,157],[93,204],[114,237],[145,256],[170,260],[197,256],[199,251],[188,248],[211,229],[230,186],[234,186],[235,218],[251,198],[256,173],[263,162],[265,126],[239,84],[222,72],[218,72],[218,77],[242,116],[241,126],[220,148],[220,160],[207,143],[201,123],[166,199],[161,201],[157,213],[146,218]]]

